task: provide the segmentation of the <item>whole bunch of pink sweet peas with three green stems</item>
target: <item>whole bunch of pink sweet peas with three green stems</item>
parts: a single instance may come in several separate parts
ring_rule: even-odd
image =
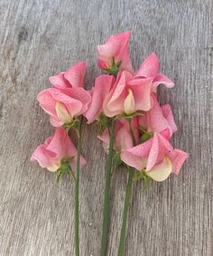
[[[123,166],[128,181],[125,190],[123,223],[117,255],[125,251],[128,209],[134,181],[162,182],[171,173],[178,175],[188,157],[171,146],[170,139],[177,130],[169,104],[161,106],[157,87],[171,88],[173,82],[159,72],[159,59],[149,55],[134,71],[128,50],[130,32],[112,35],[97,46],[98,67],[102,70],[92,90],[84,89],[86,63],[79,62],[68,71],[52,76],[52,87],[39,93],[37,100],[49,114],[55,128],[53,137],[46,139],[32,154],[40,166],[57,174],[73,177],[75,184],[75,251],[79,255],[79,175],[86,164],[81,156],[81,126],[95,122],[107,154],[106,185],[103,208],[103,229],[100,255],[106,255],[109,223],[109,194],[112,172]],[[70,138],[74,129],[77,148]]]

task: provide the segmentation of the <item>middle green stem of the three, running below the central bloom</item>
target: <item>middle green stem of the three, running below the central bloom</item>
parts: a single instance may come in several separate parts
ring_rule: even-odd
[[[106,182],[105,182],[105,195],[104,195],[104,210],[103,210],[103,227],[101,237],[101,252],[100,256],[106,256],[107,247],[107,233],[109,221],[109,191],[111,184],[111,169],[113,163],[113,149],[114,149],[114,136],[115,136],[115,119],[112,119],[110,128],[110,141],[108,148],[108,156],[106,162]]]

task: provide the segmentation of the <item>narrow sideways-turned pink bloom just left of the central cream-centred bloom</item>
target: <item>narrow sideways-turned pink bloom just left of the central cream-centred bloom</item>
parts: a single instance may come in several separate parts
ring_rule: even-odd
[[[88,124],[98,119],[100,114],[103,112],[103,102],[106,95],[113,87],[115,78],[110,75],[100,75],[95,81],[95,86],[92,89],[92,101],[85,114],[88,119]]]

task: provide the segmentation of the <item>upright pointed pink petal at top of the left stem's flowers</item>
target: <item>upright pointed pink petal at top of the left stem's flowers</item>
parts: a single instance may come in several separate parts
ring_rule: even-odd
[[[86,62],[79,62],[64,73],[64,78],[72,87],[83,87]]]

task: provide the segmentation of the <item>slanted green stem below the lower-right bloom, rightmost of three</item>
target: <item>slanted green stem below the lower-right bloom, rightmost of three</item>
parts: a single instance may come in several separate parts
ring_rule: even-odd
[[[120,242],[118,247],[117,256],[123,256],[125,251],[125,233],[126,233],[126,226],[127,226],[127,218],[132,194],[132,187],[133,187],[133,169],[130,169],[128,182],[125,188],[125,205],[123,210],[123,221],[122,221],[122,228],[120,233]]]

